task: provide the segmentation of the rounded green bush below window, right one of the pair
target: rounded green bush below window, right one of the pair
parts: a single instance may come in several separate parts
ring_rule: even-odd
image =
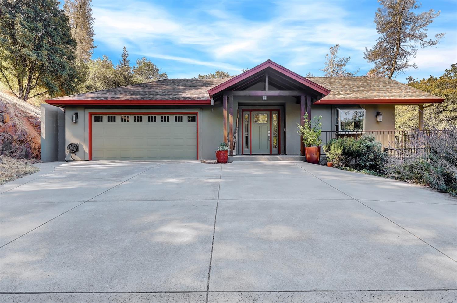
[[[361,170],[379,170],[386,161],[383,144],[374,135],[362,136],[358,140],[358,148],[356,165]]]

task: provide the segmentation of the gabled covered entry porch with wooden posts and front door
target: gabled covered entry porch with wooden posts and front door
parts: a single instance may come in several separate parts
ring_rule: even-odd
[[[297,124],[329,90],[267,60],[208,92],[212,105],[223,105],[222,139],[231,156],[303,155]]]

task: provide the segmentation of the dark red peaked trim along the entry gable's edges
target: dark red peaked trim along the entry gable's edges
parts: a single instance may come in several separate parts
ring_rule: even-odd
[[[249,78],[250,76],[258,73],[259,71],[266,69],[267,67],[275,69],[276,71],[278,71],[282,74],[285,74],[286,76],[292,78],[293,80],[296,80],[296,81],[302,83],[303,85],[306,85],[314,90],[319,91],[321,94],[328,95],[330,93],[330,90],[326,89],[325,87],[320,86],[319,84],[316,84],[313,81],[308,80],[308,79],[300,76],[299,74],[292,72],[292,70],[286,69],[284,66],[281,66],[281,65],[271,61],[270,59],[268,59],[264,63],[259,64],[250,70],[245,71],[243,74],[239,74],[238,76],[236,76],[230,80],[227,80],[227,81],[219,84],[218,86],[213,87],[212,89],[209,89],[208,90],[209,96],[212,97],[214,94],[227,89],[228,87],[234,85],[235,83],[237,83],[241,80]]]

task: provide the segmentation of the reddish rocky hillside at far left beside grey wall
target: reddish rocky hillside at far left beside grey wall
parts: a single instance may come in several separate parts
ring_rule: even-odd
[[[40,159],[40,108],[0,92],[0,154]]]

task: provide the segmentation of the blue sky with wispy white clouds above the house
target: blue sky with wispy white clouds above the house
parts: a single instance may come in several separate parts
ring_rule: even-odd
[[[397,76],[441,75],[457,63],[457,0],[422,1],[419,11],[441,10],[429,35],[445,32],[437,48],[419,49],[418,69]],[[117,63],[122,47],[131,64],[146,57],[170,78],[192,78],[216,69],[239,74],[271,59],[302,75],[322,76],[329,47],[351,57],[348,70],[370,65],[365,47],[375,44],[375,0],[352,1],[103,1],[92,0],[95,17],[94,58],[108,55]]]

